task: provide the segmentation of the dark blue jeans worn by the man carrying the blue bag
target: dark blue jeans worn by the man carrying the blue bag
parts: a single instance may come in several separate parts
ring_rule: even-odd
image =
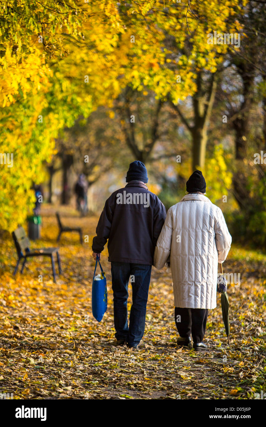
[[[112,289],[114,292],[114,328],[116,330],[114,336],[118,340],[125,340],[131,346],[138,345],[144,334],[151,271],[151,265],[111,263]],[[129,279],[132,284],[132,306],[128,325]]]

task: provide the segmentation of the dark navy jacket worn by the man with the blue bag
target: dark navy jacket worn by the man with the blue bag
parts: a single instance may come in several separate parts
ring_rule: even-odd
[[[166,210],[140,181],[130,181],[106,200],[92,242],[102,252],[108,240],[108,261],[153,264],[153,254]]]

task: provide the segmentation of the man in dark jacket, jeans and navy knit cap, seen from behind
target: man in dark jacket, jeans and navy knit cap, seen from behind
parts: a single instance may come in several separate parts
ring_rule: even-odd
[[[158,197],[146,187],[145,165],[129,165],[126,187],[106,200],[92,243],[93,257],[108,240],[114,292],[114,328],[117,345],[136,348],[143,337],[153,254],[166,211]],[[99,255],[100,256],[100,255]],[[128,284],[132,284],[129,325]]]

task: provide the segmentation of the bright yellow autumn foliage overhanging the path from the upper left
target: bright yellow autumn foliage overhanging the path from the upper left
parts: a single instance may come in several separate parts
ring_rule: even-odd
[[[208,44],[213,29],[238,32],[243,2],[113,0],[3,1],[0,6],[2,228],[15,228],[32,205],[32,181],[50,161],[60,131],[120,92],[152,90],[177,105],[215,73],[230,44]],[[189,13],[188,13],[189,12]]]

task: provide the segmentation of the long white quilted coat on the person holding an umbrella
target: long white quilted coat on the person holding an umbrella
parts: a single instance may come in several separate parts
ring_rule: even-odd
[[[175,307],[216,307],[218,262],[231,242],[221,209],[203,194],[187,194],[169,209],[154,266],[163,268],[170,254]]]

